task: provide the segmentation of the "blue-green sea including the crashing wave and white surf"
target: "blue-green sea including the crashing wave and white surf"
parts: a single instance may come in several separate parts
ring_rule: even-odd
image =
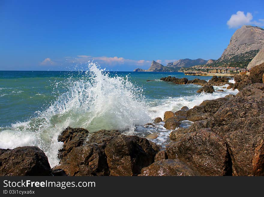
[[[0,148],[38,146],[53,167],[63,145],[58,136],[68,126],[85,128],[91,135],[101,129],[119,130],[165,146],[171,130],[164,122],[147,123],[163,119],[166,111],[238,93],[224,85],[214,86],[223,92],[198,94],[201,86],[160,80],[166,76],[211,79],[180,72],[107,71],[96,63],[75,71],[0,71]],[[181,127],[191,124],[182,121]]]

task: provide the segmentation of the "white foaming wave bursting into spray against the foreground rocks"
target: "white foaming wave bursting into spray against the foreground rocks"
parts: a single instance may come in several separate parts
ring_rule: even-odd
[[[73,81],[68,91],[36,118],[13,124],[11,130],[0,132],[0,148],[38,146],[58,165],[58,135],[66,127],[83,127],[89,132],[101,129],[134,130],[135,125],[151,120],[144,103],[143,90],[128,77],[110,77],[91,62],[85,77]]]

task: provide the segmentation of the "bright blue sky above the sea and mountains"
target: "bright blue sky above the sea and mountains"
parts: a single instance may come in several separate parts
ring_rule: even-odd
[[[131,71],[152,60],[217,59],[237,28],[264,26],[263,8],[263,0],[0,0],[0,70],[72,70],[94,59]]]

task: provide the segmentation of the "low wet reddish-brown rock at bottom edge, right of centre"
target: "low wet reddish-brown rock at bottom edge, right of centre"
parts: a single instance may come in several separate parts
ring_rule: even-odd
[[[199,173],[194,172],[184,162],[175,159],[167,159],[152,163],[150,166],[143,168],[139,176],[197,176]]]

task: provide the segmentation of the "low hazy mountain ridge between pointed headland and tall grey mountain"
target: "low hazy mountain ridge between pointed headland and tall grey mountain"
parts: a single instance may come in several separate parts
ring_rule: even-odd
[[[167,67],[172,67],[172,68],[177,68],[178,70],[181,67],[192,67],[192,66],[196,66],[196,65],[204,65],[206,64],[208,61],[204,60],[204,59],[179,59],[175,62],[170,62],[168,63]]]

